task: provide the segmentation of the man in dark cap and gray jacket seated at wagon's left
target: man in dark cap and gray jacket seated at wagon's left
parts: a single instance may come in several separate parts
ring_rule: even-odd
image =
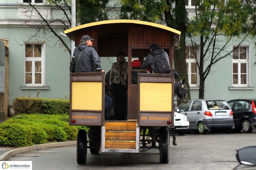
[[[88,35],[84,35],[80,44],[75,48],[72,61],[70,63],[71,73],[84,73],[84,72],[104,72],[101,69],[100,57],[92,47],[94,39]],[[81,55],[80,55],[81,54]],[[78,60],[78,57],[80,58]],[[94,69],[96,68],[96,69]],[[92,89],[93,90],[93,89]],[[109,112],[112,103],[112,98],[105,95],[105,110]],[[105,117],[106,118],[106,117]]]

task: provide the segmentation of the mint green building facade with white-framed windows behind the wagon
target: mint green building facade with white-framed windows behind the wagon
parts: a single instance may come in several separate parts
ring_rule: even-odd
[[[44,8],[43,5],[37,5],[37,7]],[[36,97],[38,90],[41,90],[39,97],[62,98],[65,93],[69,94],[70,54],[62,44],[59,44],[57,37],[50,38],[49,35],[52,35],[50,32],[47,32],[47,38],[40,35],[36,39],[29,40],[29,36],[33,35],[36,29],[29,27],[29,23],[24,24],[24,20],[32,23],[38,18],[36,15],[34,17],[32,15],[31,19],[26,18],[22,12],[23,9],[23,0],[0,0],[0,39],[8,40],[9,43],[9,105],[12,105],[12,100],[16,97]],[[43,13],[47,14],[45,11]],[[47,16],[49,21],[56,18],[58,15]],[[118,14],[113,14],[109,19],[118,19]],[[57,33],[60,32],[62,32],[61,29],[57,29]],[[68,37],[62,36],[62,39],[71,46]],[[28,44],[27,47],[24,43]],[[187,46],[189,45],[188,40]],[[232,50],[236,45],[236,42],[231,43],[228,48]],[[26,57],[30,55],[27,54],[28,51],[26,53],[26,48],[33,49],[32,57]],[[36,57],[35,49],[37,48],[41,48],[39,58]],[[253,41],[242,43],[241,51],[232,55],[237,57],[237,54],[237,59],[231,56],[223,58],[212,67],[212,73],[205,80],[204,98],[221,98],[227,101],[240,97],[256,98],[256,66],[254,64],[256,57]],[[197,57],[198,55],[199,51],[197,51]],[[244,55],[246,55],[245,59]],[[104,57],[101,58],[101,62],[103,70],[108,72],[112,63],[116,62],[116,57]],[[187,63],[191,99],[196,99],[199,93],[198,69],[194,67],[193,59],[188,58]]]

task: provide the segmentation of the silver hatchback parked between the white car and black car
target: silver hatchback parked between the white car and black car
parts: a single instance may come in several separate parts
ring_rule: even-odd
[[[181,104],[177,112],[187,116],[188,130],[205,134],[211,129],[225,129],[231,133],[235,128],[233,111],[223,99],[195,99]]]

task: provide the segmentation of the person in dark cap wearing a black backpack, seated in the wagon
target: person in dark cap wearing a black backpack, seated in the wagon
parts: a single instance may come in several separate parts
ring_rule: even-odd
[[[169,74],[172,69],[169,62],[168,54],[158,47],[157,44],[150,45],[150,53],[141,65],[142,69],[151,66],[152,73]],[[174,78],[179,78],[179,73],[173,69]]]

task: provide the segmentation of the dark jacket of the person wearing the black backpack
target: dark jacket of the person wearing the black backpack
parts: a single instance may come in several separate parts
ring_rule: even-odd
[[[168,64],[170,65],[168,54],[164,51],[164,49],[156,48],[155,50],[152,50],[151,52],[153,52],[157,55],[159,55],[159,54],[163,55],[166,58]],[[155,58],[151,54],[149,54],[148,57],[143,61],[141,68],[147,69],[149,66],[151,66],[152,73],[155,73]],[[172,72],[174,74],[174,78],[178,79],[179,73],[177,73],[174,69]]]

